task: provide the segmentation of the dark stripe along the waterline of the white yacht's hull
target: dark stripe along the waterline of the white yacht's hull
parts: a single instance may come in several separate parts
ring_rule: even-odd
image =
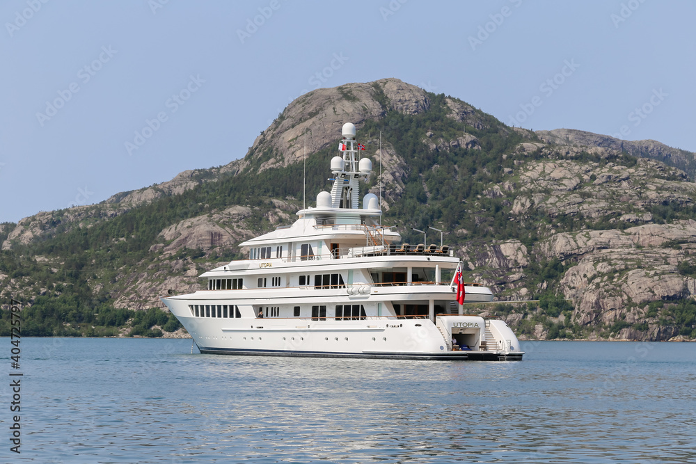
[[[242,355],[242,356],[298,356],[306,358],[372,358],[372,359],[411,359],[440,361],[521,361],[524,353],[484,353],[481,351],[445,351],[443,353],[385,353],[365,351],[363,353],[334,353],[328,351],[280,351],[248,350],[236,348],[213,348],[198,346],[203,354]]]

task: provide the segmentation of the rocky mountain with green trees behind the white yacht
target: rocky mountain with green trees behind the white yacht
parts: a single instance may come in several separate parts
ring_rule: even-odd
[[[398,79],[299,97],[225,166],[0,225],[0,298],[31,304],[26,335],[175,328],[132,310],[200,288],[200,273],[244,255],[237,243],[292,223],[303,170],[313,205],[347,121],[381,164],[383,221],[409,243],[422,241],[413,227],[444,230],[467,280],[497,294],[471,312],[523,339],[696,337],[695,154],[507,127]],[[0,335],[8,327],[0,319]]]

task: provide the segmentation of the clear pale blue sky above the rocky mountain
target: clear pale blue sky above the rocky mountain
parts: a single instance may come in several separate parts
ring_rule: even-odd
[[[696,151],[694,17],[688,0],[3,0],[0,222],[226,164],[302,93],[385,77],[506,124]]]

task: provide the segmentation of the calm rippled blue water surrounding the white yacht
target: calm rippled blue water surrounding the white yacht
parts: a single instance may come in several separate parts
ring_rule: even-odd
[[[696,344],[522,347],[522,362],[438,362],[22,339],[22,454],[5,387],[0,461],[696,462]]]

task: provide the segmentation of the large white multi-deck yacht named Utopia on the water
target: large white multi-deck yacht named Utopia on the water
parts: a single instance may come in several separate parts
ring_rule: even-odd
[[[161,300],[201,353],[521,360],[504,321],[464,314],[493,294],[462,281],[448,246],[397,244],[400,234],[380,225],[377,195],[360,205],[358,182],[372,162],[355,135],[343,126],[333,188],[315,207],[241,243],[248,259],[203,273],[205,289]]]

